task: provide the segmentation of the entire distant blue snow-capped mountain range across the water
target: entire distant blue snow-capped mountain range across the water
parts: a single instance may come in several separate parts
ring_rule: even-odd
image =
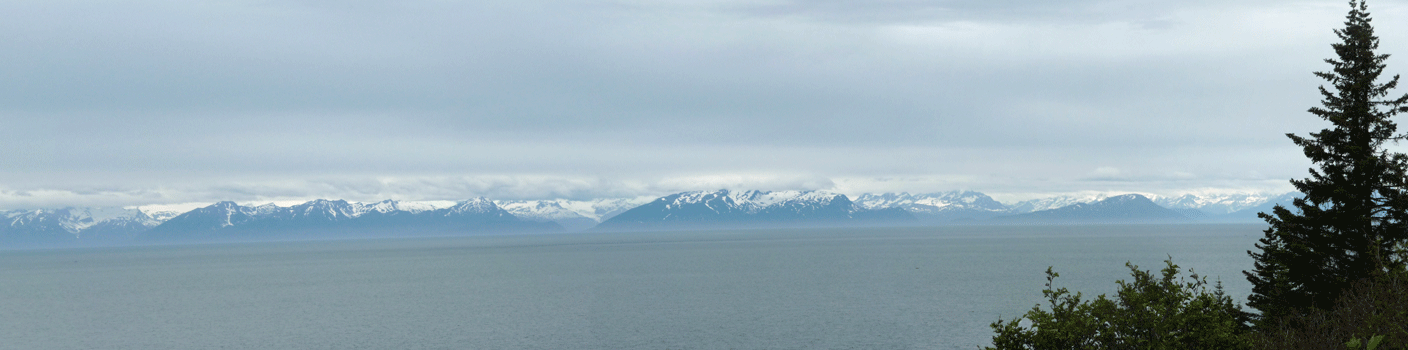
[[[141,208],[0,211],[0,247],[183,240],[268,240],[576,231],[877,225],[1260,222],[1298,194],[1062,195],[1002,204],[977,191],[862,194],[690,191],[594,201],[317,200],[291,207],[217,202],[187,212]]]

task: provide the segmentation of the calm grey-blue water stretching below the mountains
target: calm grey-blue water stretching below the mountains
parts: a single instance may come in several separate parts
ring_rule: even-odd
[[[1259,225],[573,233],[0,252],[3,349],[974,349]]]

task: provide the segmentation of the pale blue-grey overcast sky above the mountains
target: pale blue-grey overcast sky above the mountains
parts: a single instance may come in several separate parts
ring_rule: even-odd
[[[0,209],[1290,191],[1345,1],[10,0]],[[1370,11],[1408,73],[1408,0]],[[1402,89],[1400,90],[1402,93]]]

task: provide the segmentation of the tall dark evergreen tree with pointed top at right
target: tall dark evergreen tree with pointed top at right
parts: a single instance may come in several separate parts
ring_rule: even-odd
[[[1398,76],[1377,83],[1388,55],[1378,55],[1378,38],[1369,7],[1350,0],[1345,28],[1335,34],[1338,59],[1331,72],[1316,72],[1333,91],[1319,87],[1321,107],[1309,110],[1332,124],[1308,138],[1287,134],[1318,167],[1311,177],[1291,180],[1302,194],[1297,211],[1277,205],[1260,214],[1270,228],[1247,252],[1256,259],[1247,305],[1262,311],[1262,323],[1309,308],[1328,309],[1347,285],[1381,271],[1404,267],[1395,247],[1408,240],[1408,157],[1384,149],[1398,142],[1390,119],[1408,111],[1408,94],[1387,100]]]

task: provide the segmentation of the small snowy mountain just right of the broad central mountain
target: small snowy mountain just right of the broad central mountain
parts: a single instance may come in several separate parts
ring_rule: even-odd
[[[862,194],[856,205],[865,209],[901,208],[926,222],[986,219],[1008,212],[1007,205],[976,191],[929,194]]]

